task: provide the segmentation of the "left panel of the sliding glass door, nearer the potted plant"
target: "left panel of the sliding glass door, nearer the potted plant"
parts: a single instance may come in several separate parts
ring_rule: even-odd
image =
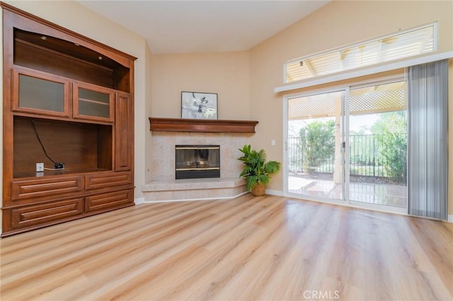
[[[288,99],[288,192],[343,200],[345,91]]]

